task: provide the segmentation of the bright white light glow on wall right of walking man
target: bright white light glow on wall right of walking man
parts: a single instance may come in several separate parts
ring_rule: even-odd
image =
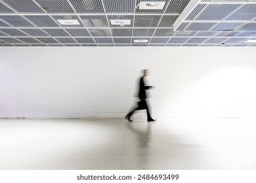
[[[256,110],[255,69],[224,67],[191,82],[170,103],[173,116],[244,118]]]

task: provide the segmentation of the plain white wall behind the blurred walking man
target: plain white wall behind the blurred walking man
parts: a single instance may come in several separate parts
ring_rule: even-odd
[[[255,117],[255,47],[1,47],[0,117],[123,116],[149,69],[153,117]],[[144,113],[139,112],[139,115]]]

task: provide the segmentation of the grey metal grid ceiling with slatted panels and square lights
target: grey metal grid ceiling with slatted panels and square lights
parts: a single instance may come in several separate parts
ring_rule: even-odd
[[[0,46],[255,46],[255,39],[256,0],[0,0]]]

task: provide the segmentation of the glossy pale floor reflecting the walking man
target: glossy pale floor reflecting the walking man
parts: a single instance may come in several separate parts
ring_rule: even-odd
[[[0,169],[256,169],[253,119],[0,120]]]

